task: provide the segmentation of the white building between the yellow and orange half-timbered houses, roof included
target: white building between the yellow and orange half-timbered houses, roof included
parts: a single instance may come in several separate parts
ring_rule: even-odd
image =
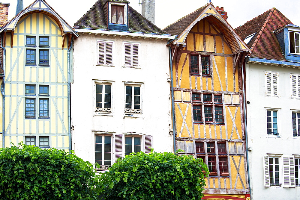
[[[98,0],[74,28],[80,35],[71,88],[76,155],[107,169],[131,152],[172,152],[166,45],[174,36],[125,0]]]

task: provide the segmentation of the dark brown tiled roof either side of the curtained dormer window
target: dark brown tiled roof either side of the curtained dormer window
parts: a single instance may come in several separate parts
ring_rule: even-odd
[[[113,0],[123,1],[123,0]],[[107,28],[105,13],[103,10],[107,0],[98,0],[85,15],[83,15],[75,24],[74,28],[87,28],[97,30],[109,30]],[[128,6],[128,31],[150,34],[168,34],[152,24],[143,15],[138,13],[132,7]]]

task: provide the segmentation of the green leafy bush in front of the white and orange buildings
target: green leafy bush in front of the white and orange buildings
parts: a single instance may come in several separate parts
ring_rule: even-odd
[[[152,149],[153,151],[153,149]],[[101,175],[105,199],[201,199],[207,166],[173,153],[132,153]]]

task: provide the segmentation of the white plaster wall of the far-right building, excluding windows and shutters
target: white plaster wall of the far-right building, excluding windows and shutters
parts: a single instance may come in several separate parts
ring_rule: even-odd
[[[279,96],[265,95],[265,71],[279,72]],[[291,99],[290,73],[300,74],[300,69],[246,64],[247,131],[249,172],[253,199],[300,199],[300,188],[272,188],[264,186],[263,155],[300,154],[300,140],[292,135],[292,111],[300,110],[300,99]],[[266,108],[280,108],[279,138],[267,136]]]

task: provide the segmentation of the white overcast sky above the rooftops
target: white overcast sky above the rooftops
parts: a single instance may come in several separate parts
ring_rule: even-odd
[[[23,0],[24,8],[34,0]],[[82,17],[97,0],[46,0],[70,25]],[[141,13],[139,0],[128,0],[130,6]],[[10,3],[9,19],[15,16],[17,0],[1,0]],[[141,2],[141,0],[140,0]],[[298,9],[300,0],[211,0],[214,6],[224,7],[228,12],[228,22],[232,28],[276,7],[295,25],[300,26]],[[155,25],[163,29],[183,16],[207,3],[207,0],[155,0]]]

